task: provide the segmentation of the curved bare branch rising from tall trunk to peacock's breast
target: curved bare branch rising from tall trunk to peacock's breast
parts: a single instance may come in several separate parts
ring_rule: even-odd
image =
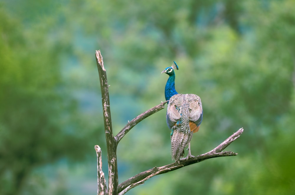
[[[124,137],[124,135],[126,135],[126,133],[128,133],[130,129],[132,129],[140,121],[165,108],[166,102],[168,102],[168,100],[160,103],[159,105],[151,108],[150,110],[145,111],[144,113],[138,115],[137,117],[132,119],[129,123],[127,123],[127,125],[125,125],[125,127],[116,135],[115,139],[117,140],[117,143],[119,143],[119,141]]]

